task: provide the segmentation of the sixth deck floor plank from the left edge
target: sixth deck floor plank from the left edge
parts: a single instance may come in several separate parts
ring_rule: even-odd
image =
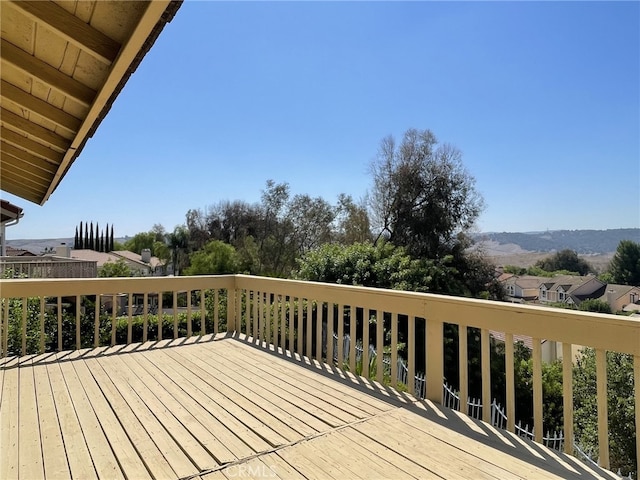
[[[75,361],[73,367],[125,477],[140,480],[151,478],[127,434],[129,429],[125,430],[114,414],[87,365],[83,361]]]

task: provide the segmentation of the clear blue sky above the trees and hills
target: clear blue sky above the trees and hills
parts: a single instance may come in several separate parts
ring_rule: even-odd
[[[9,239],[117,237],[191,208],[362,197],[380,140],[463,152],[481,231],[640,227],[640,3],[187,1]]]

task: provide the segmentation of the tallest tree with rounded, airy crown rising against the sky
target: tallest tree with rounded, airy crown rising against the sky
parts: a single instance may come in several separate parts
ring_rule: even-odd
[[[370,206],[378,239],[387,237],[414,257],[450,255],[483,208],[461,152],[429,130],[407,130],[396,145],[382,140],[371,164]]]

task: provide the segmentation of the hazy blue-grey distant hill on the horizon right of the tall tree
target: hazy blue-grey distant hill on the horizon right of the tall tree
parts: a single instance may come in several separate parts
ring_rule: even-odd
[[[640,243],[640,228],[614,230],[554,230],[527,233],[482,233],[476,236],[480,245],[496,253],[557,252],[570,249],[583,255],[615,252],[621,240]]]

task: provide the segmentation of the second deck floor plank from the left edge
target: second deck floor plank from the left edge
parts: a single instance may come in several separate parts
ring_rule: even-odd
[[[27,363],[29,364],[29,363]],[[20,369],[20,415],[18,426],[18,462],[21,477],[40,478],[44,475],[42,444],[38,432],[38,404],[33,368]],[[23,432],[20,435],[20,432]]]

